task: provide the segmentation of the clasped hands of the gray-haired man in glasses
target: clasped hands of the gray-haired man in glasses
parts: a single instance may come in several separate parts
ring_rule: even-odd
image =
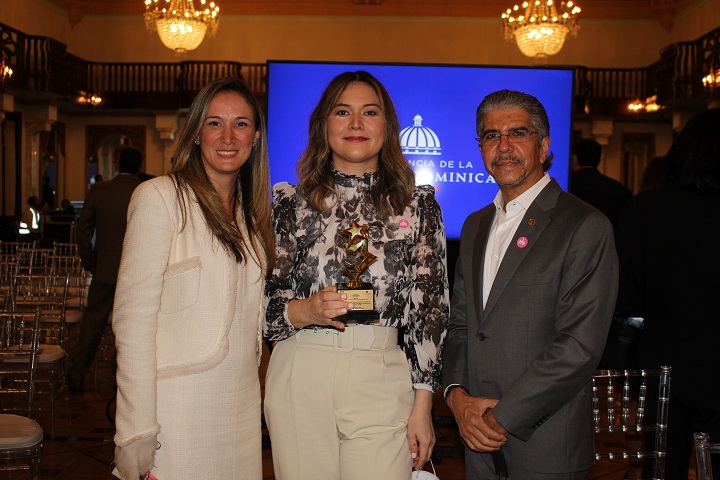
[[[455,415],[460,436],[467,446],[478,452],[499,450],[507,441],[507,430],[502,428],[492,410],[498,400],[486,397],[473,397],[461,388],[450,391],[447,404]]]

